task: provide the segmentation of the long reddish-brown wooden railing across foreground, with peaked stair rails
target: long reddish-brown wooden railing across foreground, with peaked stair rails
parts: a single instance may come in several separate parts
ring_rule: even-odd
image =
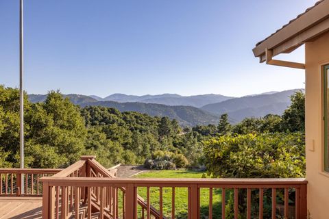
[[[176,191],[182,188],[187,193],[188,219],[201,218],[200,200],[204,192],[200,191],[204,190],[208,191],[209,219],[226,218],[227,214],[233,214],[234,218],[242,214],[243,218],[269,218],[268,210],[271,218],[281,211],[284,218],[307,217],[305,179],[123,179],[109,177],[107,171],[95,159],[87,157],[53,177],[42,177],[43,218],[177,218],[175,200],[181,197],[176,196]],[[146,190],[145,201],[138,196],[141,188]],[[151,188],[158,191],[157,208],[151,203],[154,198]],[[169,215],[164,212],[168,188],[171,190]],[[215,190],[219,192],[214,193]],[[217,194],[221,194],[221,211],[215,211],[219,207],[214,205]],[[234,198],[231,211],[227,209],[229,195]],[[278,202],[280,199],[283,203]],[[265,206],[269,201],[270,207]]]

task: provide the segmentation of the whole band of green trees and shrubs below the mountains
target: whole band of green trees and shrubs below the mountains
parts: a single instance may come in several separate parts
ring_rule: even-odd
[[[178,120],[167,116],[120,112],[102,106],[82,108],[58,92],[49,92],[41,103],[31,103],[26,97],[25,164],[28,167],[65,167],[84,154],[97,155],[97,160],[107,167],[122,163],[162,169],[205,164],[210,174],[219,177],[227,177],[230,169],[244,166],[245,162],[252,162],[250,166],[260,165],[259,162],[267,165],[264,162],[269,160],[275,161],[273,165],[280,163],[282,168],[286,163],[291,165],[289,172],[282,172],[284,176],[304,175],[302,92],[291,96],[292,103],[282,116],[246,118],[232,125],[228,115],[223,114],[217,125],[193,128],[183,128]],[[285,150],[285,157],[277,156],[276,151],[283,153],[280,148]],[[237,157],[230,157],[232,150]],[[265,154],[271,151],[270,157],[263,159],[261,150]],[[256,159],[245,160],[245,156]],[[289,157],[302,162],[288,163]],[[236,159],[234,166],[227,166],[231,159]],[[3,86],[0,86],[0,166],[19,166],[19,90]],[[217,171],[219,166],[228,172]],[[263,168],[258,168],[258,173],[254,170],[254,175],[264,174]],[[266,176],[275,174],[267,172]],[[247,176],[247,172],[241,172],[241,176]]]

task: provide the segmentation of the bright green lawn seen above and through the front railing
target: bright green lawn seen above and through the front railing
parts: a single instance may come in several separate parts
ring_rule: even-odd
[[[191,170],[153,170],[136,175],[136,178],[202,178],[204,172]],[[164,216],[171,218],[171,188],[163,188]],[[138,194],[146,200],[146,188],[138,188]],[[151,205],[159,209],[159,189],[150,188]],[[187,218],[187,188],[175,188],[175,218]],[[200,191],[200,206],[202,218],[208,217],[209,189]],[[213,218],[221,216],[221,190],[213,190]],[[141,209],[138,209],[141,212]],[[146,216],[146,212],[145,212]]]

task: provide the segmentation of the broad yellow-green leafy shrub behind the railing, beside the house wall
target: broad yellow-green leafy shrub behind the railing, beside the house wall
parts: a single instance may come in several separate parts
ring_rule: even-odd
[[[286,178],[305,176],[304,133],[259,133],[221,136],[204,142],[208,175],[227,178]],[[293,192],[293,191],[291,191]],[[293,194],[291,194],[293,196]],[[252,206],[257,206],[256,193]],[[271,217],[271,192],[264,194],[264,217]],[[278,191],[278,197],[282,194]],[[245,191],[239,190],[239,211],[246,210]],[[229,194],[228,218],[234,218],[234,197]],[[257,209],[253,209],[256,216]],[[280,215],[278,215],[279,218]]]

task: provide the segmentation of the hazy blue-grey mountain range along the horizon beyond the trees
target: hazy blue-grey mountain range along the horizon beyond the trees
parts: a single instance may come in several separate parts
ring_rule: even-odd
[[[290,105],[290,96],[303,89],[266,92],[242,97],[203,94],[181,96],[179,94],[127,95],[111,94],[105,98],[95,95],[63,94],[72,103],[85,107],[101,105],[114,107],[121,112],[135,111],[150,116],[168,116],[181,125],[195,126],[217,124],[219,116],[228,113],[230,123],[239,123],[244,118],[260,117],[267,114],[282,114]],[[29,94],[33,103],[45,101],[47,94]]]

